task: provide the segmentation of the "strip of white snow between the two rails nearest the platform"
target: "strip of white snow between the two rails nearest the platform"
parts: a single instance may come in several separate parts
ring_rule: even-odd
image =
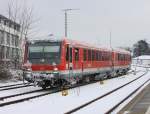
[[[122,99],[126,98],[126,96],[132,93],[135,90],[135,88],[138,88],[148,79],[149,74],[142,77],[140,80],[131,83],[129,86],[125,86],[123,89],[120,89],[117,92],[108,95],[104,99],[98,100],[92,103],[91,105],[88,105],[87,107],[77,111],[76,114],[91,114],[91,113],[98,114],[99,112],[101,114],[104,114],[113,106],[115,106],[117,103],[119,103]]]

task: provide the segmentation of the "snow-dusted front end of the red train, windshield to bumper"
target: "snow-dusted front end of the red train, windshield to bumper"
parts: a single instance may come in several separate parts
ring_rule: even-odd
[[[31,41],[25,46],[23,77],[46,88],[57,85],[61,70],[61,41]]]

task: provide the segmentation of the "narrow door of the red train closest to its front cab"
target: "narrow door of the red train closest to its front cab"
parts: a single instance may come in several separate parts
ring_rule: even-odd
[[[66,61],[67,61],[67,68],[69,70],[69,77],[73,76],[73,53],[72,53],[72,46],[67,44],[66,47]]]

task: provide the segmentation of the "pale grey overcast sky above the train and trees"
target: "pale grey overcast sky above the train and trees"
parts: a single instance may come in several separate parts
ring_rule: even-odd
[[[0,13],[7,15],[9,0],[0,0]],[[18,0],[23,3],[23,0]],[[150,38],[150,0],[26,0],[39,18],[37,36],[64,36],[62,9],[68,13],[68,38],[92,44],[132,46]],[[148,40],[149,41],[149,40]]]

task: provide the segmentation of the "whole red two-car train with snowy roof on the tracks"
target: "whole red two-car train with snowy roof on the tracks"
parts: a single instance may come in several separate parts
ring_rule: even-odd
[[[130,68],[128,51],[90,46],[73,40],[35,40],[26,43],[24,79],[42,88],[75,84]]]

